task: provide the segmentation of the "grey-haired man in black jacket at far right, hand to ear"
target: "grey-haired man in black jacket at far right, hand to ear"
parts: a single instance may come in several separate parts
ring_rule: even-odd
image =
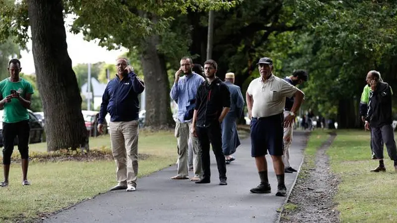
[[[388,83],[381,81],[380,73],[372,70],[367,74],[367,83],[371,86],[368,112],[365,117],[365,129],[371,128],[371,144],[373,152],[379,159],[379,167],[373,172],[386,171],[383,162],[382,139],[386,144],[388,154],[394,161],[397,171],[397,148],[392,127],[392,89]]]

